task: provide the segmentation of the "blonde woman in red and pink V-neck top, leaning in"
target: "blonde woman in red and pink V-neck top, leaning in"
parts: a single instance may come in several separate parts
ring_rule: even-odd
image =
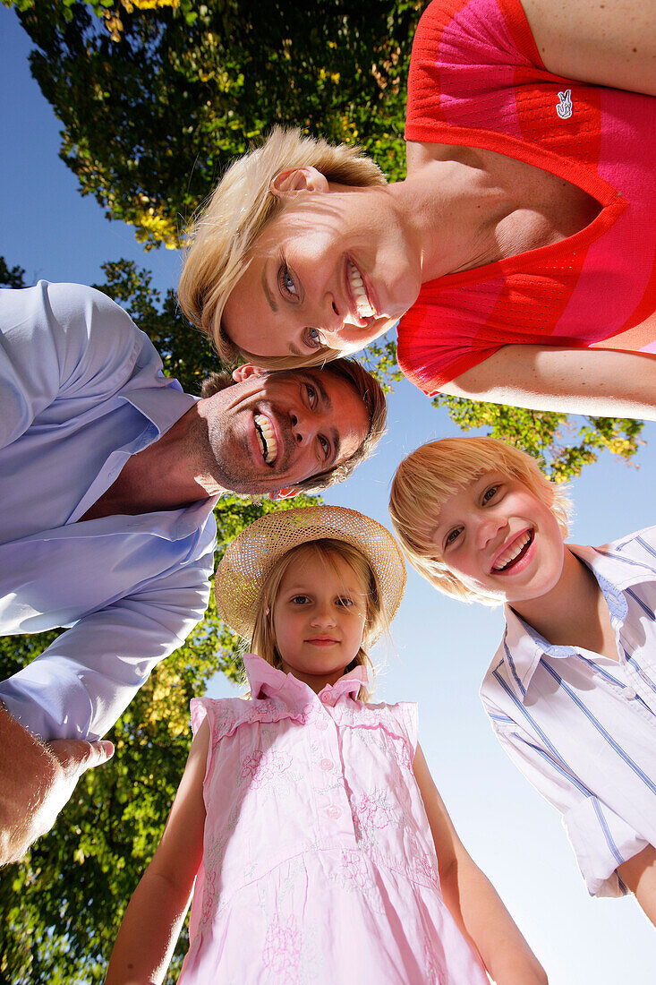
[[[224,357],[273,365],[402,318],[428,395],[656,417],[652,21],[637,0],[433,0],[407,178],[275,131],[199,219],[186,313]]]

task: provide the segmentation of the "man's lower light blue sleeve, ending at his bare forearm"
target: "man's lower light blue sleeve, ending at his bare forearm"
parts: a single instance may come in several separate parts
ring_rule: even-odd
[[[5,681],[0,697],[10,714],[45,741],[104,735],[203,618],[215,530],[209,517],[187,564],[80,620]]]

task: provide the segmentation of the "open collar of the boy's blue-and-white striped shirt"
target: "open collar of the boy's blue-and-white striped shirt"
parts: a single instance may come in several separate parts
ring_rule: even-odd
[[[611,615],[611,623],[617,630],[628,613],[628,605],[618,579],[618,562],[600,554],[595,548],[567,544],[575,557],[580,558],[590,568],[602,591]],[[653,578],[653,573],[650,572]],[[614,579],[614,580],[612,580]],[[626,583],[635,580],[635,575],[626,575]],[[621,581],[622,583],[622,581]],[[525,623],[510,606],[503,607],[505,632],[501,642],[501,659],[508,670],[508,679],[522,700],[529,689],[536,667],[543,656],[562,659],[571,657],[578,650],[573,646],[555,646],[548,642],[537,629]],[[495,658],[496,660],[497,658]]]

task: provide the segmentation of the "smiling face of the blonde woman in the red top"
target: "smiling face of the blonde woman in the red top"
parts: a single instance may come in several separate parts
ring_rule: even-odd
[[[362,349],[415,302],[421,263],[385,188],[295,194],[262,232],[222,318],[254,356]]]

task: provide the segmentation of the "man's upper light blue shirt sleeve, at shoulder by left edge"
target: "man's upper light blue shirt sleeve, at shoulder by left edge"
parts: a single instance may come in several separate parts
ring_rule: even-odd
[[[129,378],[147,337],[109,297],[45,281],[0,290],[0,447],[56,399],[90,401]]]

